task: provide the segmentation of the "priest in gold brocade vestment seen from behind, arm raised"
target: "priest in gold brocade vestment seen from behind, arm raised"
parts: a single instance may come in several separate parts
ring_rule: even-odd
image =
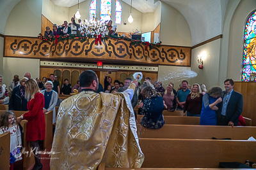
[[[125,92],[97,94],[97,74],[79,77],[82,92],[60,105],[52,143],[51,169],[141,167],[141,152],[131,106],[137,81]],[[55,153],[54,153],[55,152]]]

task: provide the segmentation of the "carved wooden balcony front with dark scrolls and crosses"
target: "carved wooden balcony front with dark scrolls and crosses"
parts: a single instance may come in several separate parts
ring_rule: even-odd
[[[38,38],[6,36],[4,57],[32,57],[37,59],[74,58],[84,60],[115,60],[126,63],[190,66],[191,48],[160,46],[145,50],[145,45],[132,45],[131,41],[108,39],[95,45],[90,38],[83,43],[79,39],[51,41]]]

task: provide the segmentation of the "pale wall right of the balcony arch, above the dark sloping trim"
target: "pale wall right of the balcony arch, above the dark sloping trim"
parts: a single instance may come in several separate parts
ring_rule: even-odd
[[[192,45],[222,34],[228,0],[161,0],[186,18]]]

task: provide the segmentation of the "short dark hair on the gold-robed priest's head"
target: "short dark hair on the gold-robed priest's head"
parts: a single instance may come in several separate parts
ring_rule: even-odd
[[[92,85],[92,81],[97,80],[97,74],[92,70],[83,71],[79,76],[80,87],[89,87]]]

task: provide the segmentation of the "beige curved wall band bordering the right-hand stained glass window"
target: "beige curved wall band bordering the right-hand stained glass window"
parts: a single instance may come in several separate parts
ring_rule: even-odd
[[[244,26],[255,6],[256,1],[241,1],[230,22],[227,77],[232,77],[234,81],[241,81]]]

